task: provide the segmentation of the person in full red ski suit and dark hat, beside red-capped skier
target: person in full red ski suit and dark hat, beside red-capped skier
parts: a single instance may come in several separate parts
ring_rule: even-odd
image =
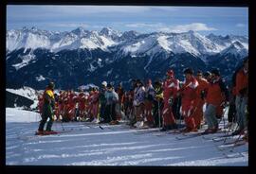
[[[181,99],[181,114],[184,117],[186,128],[183,132],[197,131],[192,113],[194,112],[194,101],[196,98],[196,88],[198,81],[193,77],[191,68],[184,71],[186,76],[185,83],[179,90]]]

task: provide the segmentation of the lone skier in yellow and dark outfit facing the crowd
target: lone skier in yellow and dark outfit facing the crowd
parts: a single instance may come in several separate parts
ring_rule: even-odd
[[[43,104],[42,120],[40,121],[39,128],[38,128],[38,131],[36,132],[36,135],[57,133],[56,131],[51,130],[53,120],[54,120],[53,109],[55,104],[53,91],[54,91],[54,83],[50,82],[47,85],[43,95],[44,104]],[[44,127],[48,118],[49,118],[49,121],[47,122],[46,131],[44,131]]]

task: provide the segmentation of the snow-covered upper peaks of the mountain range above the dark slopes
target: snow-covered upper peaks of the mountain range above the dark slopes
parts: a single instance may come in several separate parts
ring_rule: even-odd
[[[78,48],[107,50],[109,46],[121,45],[125,54],[155,55],[159,51],[167,53],[190,53],[204,57],[220,53],[231,44],[241,44],[247,51],[247,37],[227,35],[226,37],[210,34],[203,36],[194,31],[185,33],[138,34],[136,31],[121,33],[110,27],[104,27],[100,32],[85,30],[78,27],[70,32],[51,32],[36,27],[24,27],[7,32],[7,50],[19,48],[46,48],[53,52],[64,49]]]

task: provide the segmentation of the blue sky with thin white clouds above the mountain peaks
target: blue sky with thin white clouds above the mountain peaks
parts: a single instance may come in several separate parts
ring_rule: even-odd
[[[248,35],[247,8],[139,7],[139,6],[8,6],[7,29],[37,26],[53,31],[70,31],[82,26],[101,30],[136,30],[201,34]]]

